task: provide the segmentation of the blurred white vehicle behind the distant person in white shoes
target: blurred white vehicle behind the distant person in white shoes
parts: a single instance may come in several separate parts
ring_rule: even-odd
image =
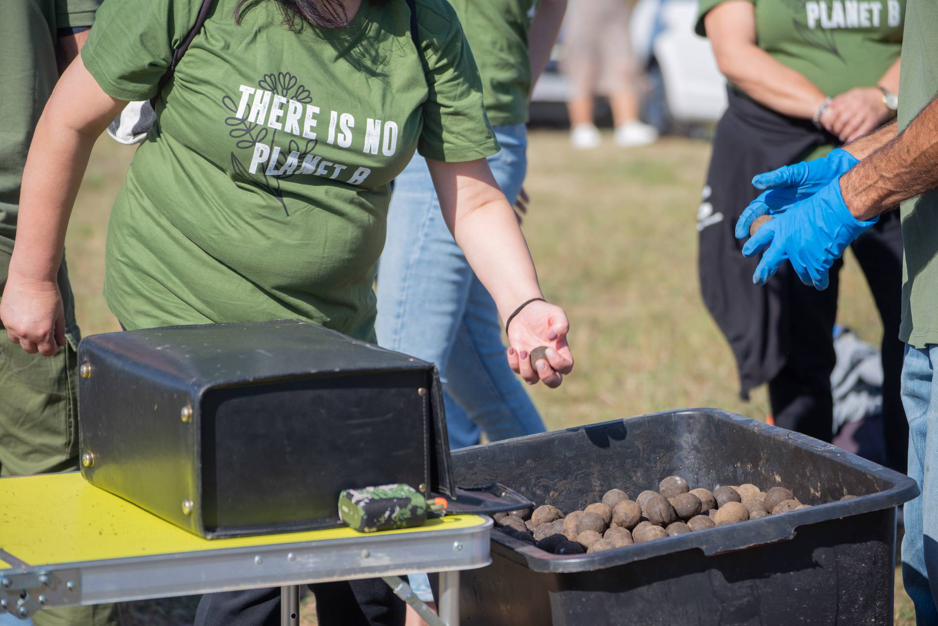
[[[567,14],[578,2],[570,0]],[[629,38],[636,63],[648,77],[643,118],[661,131],[714,122],[726,108],[726,81],[710,42],[693,32],[697,0],[639,0],[632,10]],[[569,87],[560,73],[563,33],[550,66],[531,98],[533,121],[566,120]]]

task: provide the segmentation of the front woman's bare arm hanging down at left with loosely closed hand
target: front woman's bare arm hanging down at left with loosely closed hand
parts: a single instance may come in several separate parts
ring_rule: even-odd
[[[23,170],[16,243],[0,299],[9,340],[31,354],[50,356],[65,345],[55,276],[68,217],[92,146],[126,105],[101,90],[79,56],[39,117]]]

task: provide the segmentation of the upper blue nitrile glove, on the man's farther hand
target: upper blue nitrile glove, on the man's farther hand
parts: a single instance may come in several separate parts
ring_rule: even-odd
[[[856,163],[856,157],[844,149],[831,150],[824,159],[801,161],[754,176],[752,185],[764,189],[749,203],[736,221],[736,238],[749,237],[749,226],[763,215],[776,215],[798,200],[821,191],[831,180],[842,176]]]

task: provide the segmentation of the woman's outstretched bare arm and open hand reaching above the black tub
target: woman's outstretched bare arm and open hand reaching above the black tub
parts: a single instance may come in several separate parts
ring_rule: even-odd
[[[489,291],[502,319],[507,321],[523,302],[543,298],[521,228],[488,161],[446,163],[428,159],[427,164],[446,226]],[[508,328],[511,369],[529,383],[540,380],[549,387],[560,385],[562,374],[573,368],[568,330],[567,315],[560,307],[547,302],[525,306]],[[528,355],[541,345],[551,349],[545,368],[535,370]]]

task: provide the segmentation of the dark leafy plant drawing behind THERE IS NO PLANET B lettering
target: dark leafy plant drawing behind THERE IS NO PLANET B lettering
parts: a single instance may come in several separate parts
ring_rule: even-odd
[[[287,100],[293,100],[300,104],[309,104],[312,101],[312,94],[306,88],[306,85],[300,84],[291,72],[267,73],[257,82],[260,89],[271,92],[276,96]],[[231,153],[231,163],[234,173],[238,176],[250,180],[262,191],[270,194],[280,202],[283,212],[289,217],[286,203],[283,201],[283,191],[280,189],[280,181],[295,176],[295,171],[289,174],[273,176],[268,174],[277,169],[282,169],[287,163],[287,155],[298,154],[299,160],[305,159],[318,144],[316,139],[307,139],[296,141],[290,139],[287,150],[280,151],[277,160],[269,163],[267,167],[262,167],[256,173],[250,172],[250,167],[245,166],[242,158],[250,162],[251,154],[258,144],[276,145],[277,134],[280,130],[275,129],[271,124],[251,122],[249,116],[238,116],[238,103],[231,96],[223,96],[221,105],[231,114],[225,117],[225,125],[229,127],[228,136],[234,139],[235,150]]]

